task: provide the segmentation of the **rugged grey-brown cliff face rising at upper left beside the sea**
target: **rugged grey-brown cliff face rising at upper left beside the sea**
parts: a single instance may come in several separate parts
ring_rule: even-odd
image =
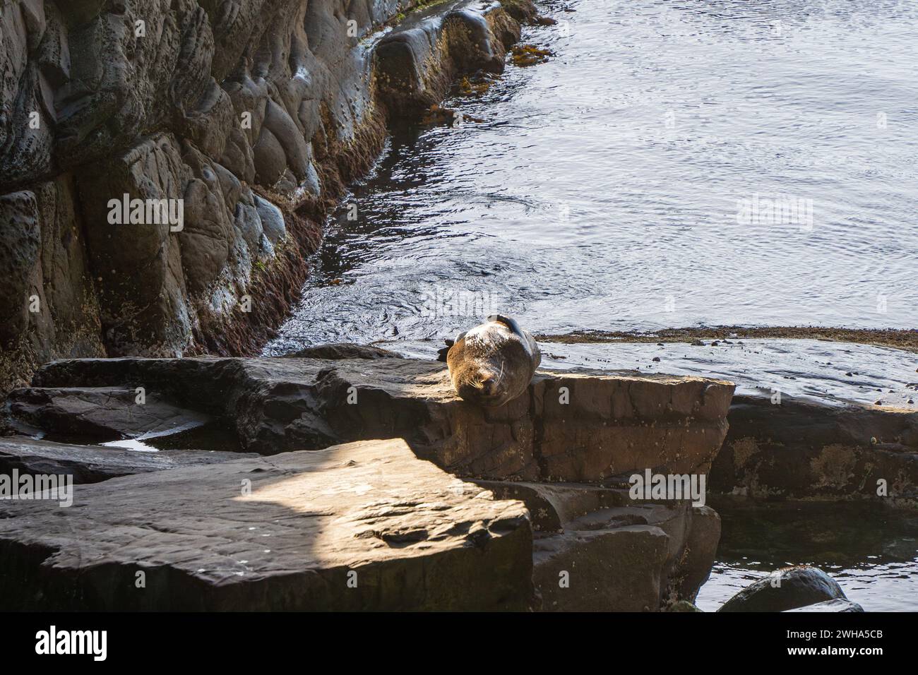
[[[62,356],[256,350],[387,117],[499,70],[532,11],[421,4],[0,1],[0,391]]]

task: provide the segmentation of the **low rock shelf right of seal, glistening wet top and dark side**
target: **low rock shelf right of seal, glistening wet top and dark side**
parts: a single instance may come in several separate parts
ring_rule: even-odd
[[[914,354],[728,335],[711,340],[702,333],[709,340],[703,347],[553,343],[556,356],[546,366],[637,363],[645,372],[661,368],[673,376],[734,382],[730,430],[708,483],[726,500],[874,501],[918,508]],[[408,353],[423,354],[417,348]]]

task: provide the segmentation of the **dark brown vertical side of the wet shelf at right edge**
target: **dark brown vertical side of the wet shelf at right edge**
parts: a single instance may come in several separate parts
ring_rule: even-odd
[[[757,500],[918,505],[918,412],[736,396],[711,489]]]

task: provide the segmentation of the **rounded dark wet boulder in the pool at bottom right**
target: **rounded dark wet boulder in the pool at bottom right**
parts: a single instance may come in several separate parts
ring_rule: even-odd
[[[845,591],[822,569],[779,569],[746,586],[718,612],[784,612],[817,602],[844,600]]]

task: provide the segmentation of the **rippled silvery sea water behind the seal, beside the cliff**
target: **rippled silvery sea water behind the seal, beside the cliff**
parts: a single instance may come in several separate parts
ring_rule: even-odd
[[[536,332],[918,324],[918,4],[567,7],[524,32],[554,58],[446,101],[480,123],[393,133],[269,353],[492,310]],[[775,197],[799,208],[769,218]]]

